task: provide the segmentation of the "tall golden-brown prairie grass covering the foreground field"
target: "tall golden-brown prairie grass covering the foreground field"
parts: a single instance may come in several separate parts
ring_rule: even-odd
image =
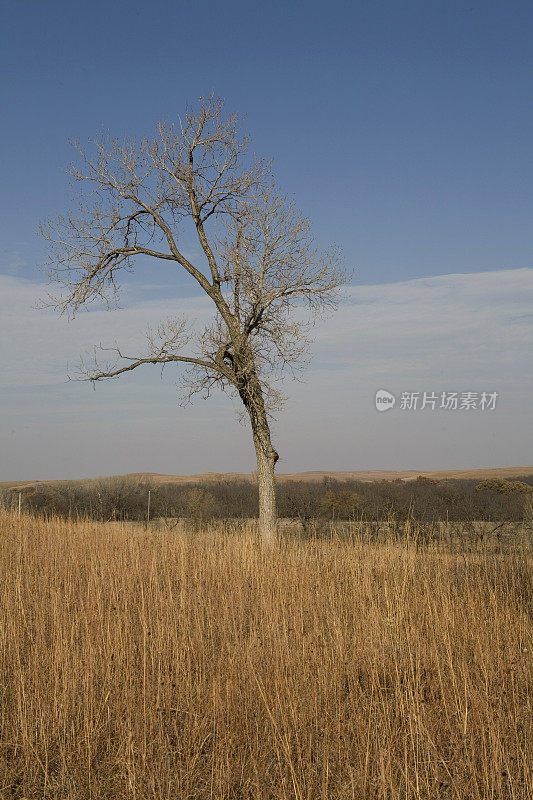
[[[533,796],[527,556],[0,524],[0,798]]]

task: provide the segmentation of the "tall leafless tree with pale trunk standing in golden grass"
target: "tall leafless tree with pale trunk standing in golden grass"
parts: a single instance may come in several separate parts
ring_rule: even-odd
[[[201,331],[185,318],[148,332],[147,351],[113,363],[98,358],[86,380],[114,378],[143,364],[185,364],[189,396],[212,387],[231,390],[244,404],[257,456],[259,521],[264,541],[276,535],[274,468],[278,454],[270,415],[287,369],[302,363],[309,326],[335,305],[346,276],[340,253],[317,251],[309,220],[273,182],[271,165],[248,156],[249,139],[223,101],[200,98],[177,124],[160,123],[142,141],[105,136],[79,154],[69,173],[82,185],[77,213],[41,225],[50,245],[50,304],[71,315],[92,301],[109,306],[117,274],[138,256],[172,261],[213,303]],[[188,222],[201,246],[201,264],[184,255]],[[310,314],[302,317],[300,307]],[[104,348],[102,348],[104,349]],[[107,348],[106,348],[107,349]]]

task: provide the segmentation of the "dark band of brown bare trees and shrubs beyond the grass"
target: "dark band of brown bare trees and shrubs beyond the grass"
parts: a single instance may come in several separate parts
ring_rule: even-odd
[[[481,482],[423,476],[372,483],[329,477],[318,482],[278,479],[275,491],[280,517],[297,520],[304,529],[316,521],[516,522],[533,497],[533,476]],[[22,492],[25,511],[103,522],[145,521],[149,515],[203,525],[250,519],[258,513],[257,484],[238,479],[156,484],[117,477],[36,484]],[[18,493],[17,488],[4,490],[2,505],[16,507]]]

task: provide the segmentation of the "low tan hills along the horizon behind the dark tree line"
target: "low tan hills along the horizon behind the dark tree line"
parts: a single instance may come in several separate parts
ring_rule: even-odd
[[[324,478],[334,478],[338,481],[413,481],[419,475],[434,480],[450,480],[465,478],[470,480],[485,480],[486,478],[520,478],[533,475],[533,467],[491,467],[489,469],[451,469],[451,470],[311,470],[309,472],[285,472],[276,475],[278,480],[288,481],[322,481]],[[132,472],[127,475],[113,476],[125,478],[146,478],[154,483],[198,483],[218,480],[253,480],[249,472],[202,472],[198,475],[164,475],[157,472]],[[90,480],[85,478],[82,482]],[[38,485],[53,485],[64,481],[3,481],[0,489],[34,488]]]

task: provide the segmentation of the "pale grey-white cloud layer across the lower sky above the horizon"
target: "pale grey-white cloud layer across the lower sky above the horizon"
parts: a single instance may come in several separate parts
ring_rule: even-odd
[[[248,432],[234,421],[230,401],[215,396],[178,409],[172,369],[162,382],[147,367],[96,392],[65,383],[68,369],[94,344],[118,341],[137,354],[146,328],[162,318],[186,313],[203,324],[210,315],[207,298],[137,300],[68,322],[34,309],[45,291],[0,275],[6,478],[31,477],[36,464],[41,474],[46,468],[46,477],[253,466]],[[525,464],[524,424],[533,410],[532,307],[531,269],[350,287],[338,312],[315,329],[305,382],[286,385],[289,401],[275,425],[281,469]],[[492,417],[469,420],[380,415],[373,408],[379,388],[498,391],[501,404]],[[228,442],[235,443],[229,450]]]

